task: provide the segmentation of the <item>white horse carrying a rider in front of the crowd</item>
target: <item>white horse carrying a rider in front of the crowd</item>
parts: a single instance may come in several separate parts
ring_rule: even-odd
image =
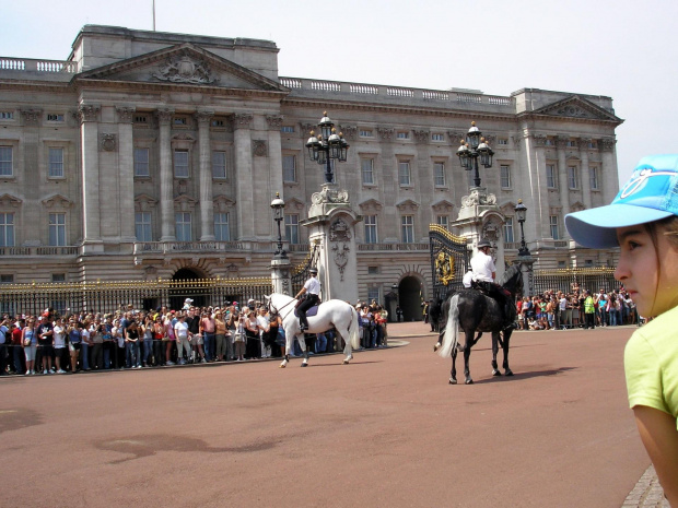
[[[308,365],[308,352],[306,351],[304,334],[299,328],[299,318],[294,315],[296,299],[288,295],[281,295],[280,293],[266,296],[266,299],[268,300],[269,309],[273,312],[278,312],[282,318],[282,328],[284,329],[285,335],[285,352],[280,367],[285,367],[290,362],[290,352],[294,344],[294,338],[299,339],[299,344],[304,352],[302,367],[306,367]],[[346,347],[343,348],[346,358],[343,358],[343,363],[348,364],[353,358],[351,354],[353,347],[360,347],[358,320],[358,312],[351,305],[340,299],[330,299],[324,302],[323,305],[318,307],[318,314],[316,316],[308,316],[308,330],[306,333],[322,333],[334,327],[346,342]]]

